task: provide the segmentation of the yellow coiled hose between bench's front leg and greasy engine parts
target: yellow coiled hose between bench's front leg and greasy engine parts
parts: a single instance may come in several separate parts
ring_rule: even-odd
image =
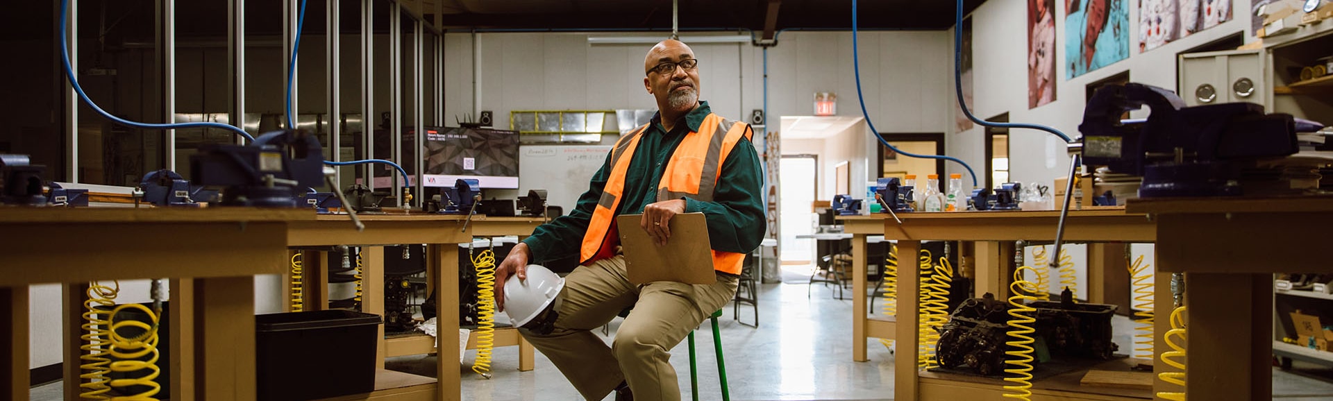
[[[949,284],[953,280],[953,266],[949,260],[940,258],[938,264],[932,264],[928,250],[921,250],[921,353],[917,356],[917,366],[930,369],[938,365],[934,358],[934,346],[940,341],[938,328],[949,322]],[[924,278],[928,277],[929,278]]]

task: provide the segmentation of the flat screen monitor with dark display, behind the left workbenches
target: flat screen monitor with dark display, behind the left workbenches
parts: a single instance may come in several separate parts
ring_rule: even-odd
[[[519,189],[517,131],[427,127],[425,133],[425,187],[477,179],[481,188]]]

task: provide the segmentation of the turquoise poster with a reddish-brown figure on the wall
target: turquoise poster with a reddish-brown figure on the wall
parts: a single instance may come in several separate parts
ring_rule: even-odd
[[[1129,59],[1129,0],[1065,0],[1065,77]]]

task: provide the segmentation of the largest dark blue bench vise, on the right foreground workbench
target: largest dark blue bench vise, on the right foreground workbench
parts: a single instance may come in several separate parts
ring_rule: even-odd
[[[1121,121],[1145,105],[1146,120]],[[1142,176],[1140,197],[1237,196],[1241,172],[1258,159],[1298,151],[1290,115],[1253,103],[1185,107],[1170,91],[1134,83],[1097,89],[1078,131],[1084,164]]]

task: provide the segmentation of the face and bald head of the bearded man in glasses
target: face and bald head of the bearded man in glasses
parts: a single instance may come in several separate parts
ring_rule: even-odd
[[[684,113],[698,104],[698,67],[694,63],[694,52],[676,40],[664,40],[648,51],[644,88],[657,99],[657,108]]]

